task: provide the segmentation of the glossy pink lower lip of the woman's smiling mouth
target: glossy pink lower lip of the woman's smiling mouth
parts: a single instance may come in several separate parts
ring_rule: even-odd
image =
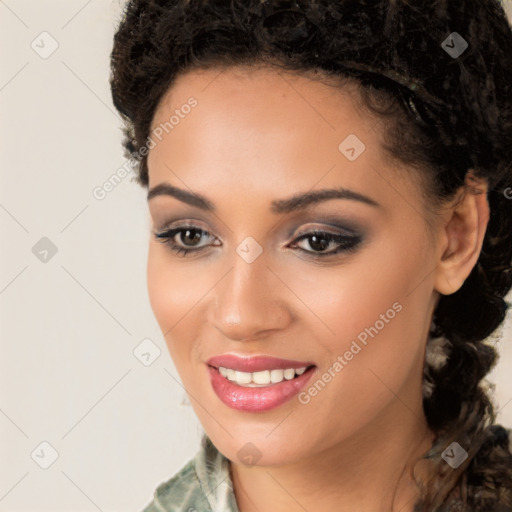
[[[232,409],[263,412],[275,409],[297,395],[311,378],[315,367],[291,380],[282,380],[270,386],[247,388],[223,377],[217,368],[208,366],[213,390],[222,403]]]

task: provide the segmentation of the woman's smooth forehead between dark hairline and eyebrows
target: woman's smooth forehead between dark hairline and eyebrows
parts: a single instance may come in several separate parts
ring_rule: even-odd
[[[360,108],[350,82],[331,85],[265,67],[189,71],[162,98],[155,130],[150,187],[180,186],[181,176],[206,195],[218,183],[278,197],[319,183],[378,198],[397,194],[390,179],[403,182],[388,165],[380,121]],[[407,181],[402,186],[410,188]]]

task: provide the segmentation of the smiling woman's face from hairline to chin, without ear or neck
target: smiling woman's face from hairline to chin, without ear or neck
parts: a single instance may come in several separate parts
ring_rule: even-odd
[[[194,71],[153,120],[152,228],[181,228],[168,241],[190,252],[151,235],[149,298],[204,430],[231,460],[303,460],[423,421],[438,246],[413,175],[385,159],[384,128],[354,94],[263,69]],[[226,354],[314,367],[288,380],[270,374],[275,361],[210,361]],[[283,380],[230,383],[208,363]]]

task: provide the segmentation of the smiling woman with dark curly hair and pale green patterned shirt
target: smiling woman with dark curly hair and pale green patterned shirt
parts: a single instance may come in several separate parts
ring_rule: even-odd
[[[145,512],[512,510],[496,0],[132,0],[111,86],[205,430]]]

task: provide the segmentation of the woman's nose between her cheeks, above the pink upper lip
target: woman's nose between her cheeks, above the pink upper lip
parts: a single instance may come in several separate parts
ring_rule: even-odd
[[[235,255],[233,266],[212,290],[208,322],[225,339],[247,341],[285,329],[291,321],[290,292],[263,258],[247,263]]]

